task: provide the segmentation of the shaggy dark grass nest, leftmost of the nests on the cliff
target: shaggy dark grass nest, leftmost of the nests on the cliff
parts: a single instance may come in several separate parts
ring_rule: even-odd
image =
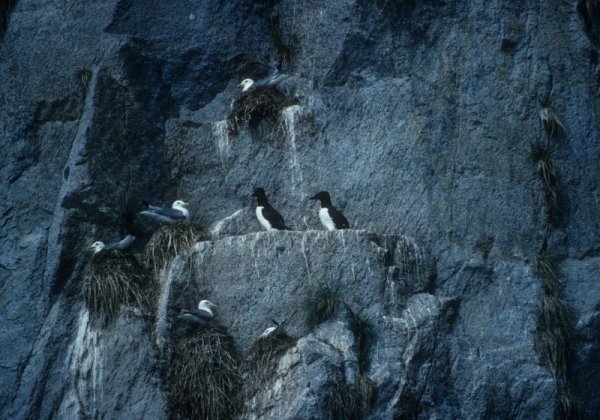
[[[113,319],[122,304],[149,310],[147,291],[151,276],[135,257],[121,251],[100,251],[92,257],[83,273],[81,296],[90,313]]]

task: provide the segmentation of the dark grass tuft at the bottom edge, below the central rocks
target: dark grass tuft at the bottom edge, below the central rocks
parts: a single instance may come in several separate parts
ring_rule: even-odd
[[[367,418],[375,396],[375,384],[360,377],[356,384],[339,383],[325,399],[327,419],[360,420]]]

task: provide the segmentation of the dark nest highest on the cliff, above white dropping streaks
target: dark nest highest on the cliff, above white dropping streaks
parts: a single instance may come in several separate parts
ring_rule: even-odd
[[[227,117],[229,134],[237,135],[244,123],[251,128],[257,128],[261,121],[275,123],[283,108],[296,104],[297,99],[288,98],[272,86],[259,86],[242,92]]]

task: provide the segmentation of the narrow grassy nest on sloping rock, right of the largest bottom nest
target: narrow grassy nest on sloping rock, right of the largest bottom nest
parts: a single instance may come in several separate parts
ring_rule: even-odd
[[[256,340],[242,364],[244,400],[254,397],[277,371],[279,359],[296,344],[296,337],[262,337]]]

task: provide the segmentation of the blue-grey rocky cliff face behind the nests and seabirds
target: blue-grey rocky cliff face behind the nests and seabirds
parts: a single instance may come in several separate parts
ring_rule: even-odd
[[[240,357],[295,313],[299,340],[247,418],[325,418],[332,390],[360,379],[372,418],[547,418],[566,391],[600,410],[594,2],[322,3],[14,5],[0,45],[3,417],[167,417],[174,318],[204,297]],[[237,84],[271,64],[300,104],[230,135]],[[255,233],[256,186],[293,232]],[[322,189],[355,230],[315,231],[307,199]],[[97,328],[78,294],[85,248],[119,237],[141,198],[189,201],[214,239],[162,272],[156,321],[124,309]],[[534,349],[540,250],[570,310],[559,375]],[[373,320],[360,374],[343,309],[304,321],[319,284]]]

